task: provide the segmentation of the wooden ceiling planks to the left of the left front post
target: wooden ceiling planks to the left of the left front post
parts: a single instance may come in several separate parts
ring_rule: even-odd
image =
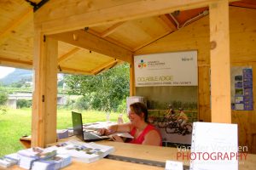
[[[1,63],[31,68],[32,8],[23,0],[1,1],[0,6]]]

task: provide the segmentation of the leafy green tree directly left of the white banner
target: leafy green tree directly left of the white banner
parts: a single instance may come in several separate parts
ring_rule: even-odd
[[[129,65],[118,65],[97,76],[66,75],[71,94],[84,96],[91,109],[116,111],[129,95]]]

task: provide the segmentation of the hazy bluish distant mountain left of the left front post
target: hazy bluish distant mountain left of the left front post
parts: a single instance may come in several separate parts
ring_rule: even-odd
[[[14,82],[27,81],[32,82],[32,71],[24,69],[15,69],[6,77],[0,79],[0,84],[10,85]]]

